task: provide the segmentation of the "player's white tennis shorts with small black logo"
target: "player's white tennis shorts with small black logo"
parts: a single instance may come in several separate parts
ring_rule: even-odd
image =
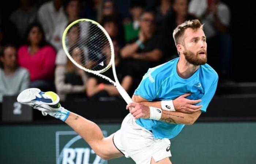
[[[170,157],[170,140],[154,138],[152,132],[135,122],[132,114],[128,114],[120,130],[114,133],[113,142],[125,157],[131,157],[136,164],[150,164],[151,158],[157,162]]]

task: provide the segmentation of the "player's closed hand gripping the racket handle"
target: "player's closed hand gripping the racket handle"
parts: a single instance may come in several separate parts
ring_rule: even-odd
[[[135,119],[139,119],[139,118],[146,119],[150,117],[150,109],[148,106],[144,106],[142,104],[132,102],[126,106],[126,109],[129,109],[129,108],[131,109],[130,113]]]

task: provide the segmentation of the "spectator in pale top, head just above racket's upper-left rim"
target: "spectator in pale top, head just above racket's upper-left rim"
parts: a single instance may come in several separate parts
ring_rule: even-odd
[[[80,12],[80,1],[79,0],[66,0],[63,4],[64,11],[67,15],[67,20],[56,25],[55,30],[53,32],[53,36],[51,38],[51,44],[55,47],[57,51],[62,48],[62,35],[67,27],[69,22],[74,22],[75,20],[80,19],[79,12]]]

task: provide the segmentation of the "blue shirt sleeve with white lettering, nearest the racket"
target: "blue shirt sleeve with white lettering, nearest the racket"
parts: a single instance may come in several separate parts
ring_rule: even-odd
[[[148,101],[153,101],[157,98],[157,79],[154,72],[150,69],[143,76],[138,88],[135,90],[135,95],[140,95],[141,97],[147,99]]]

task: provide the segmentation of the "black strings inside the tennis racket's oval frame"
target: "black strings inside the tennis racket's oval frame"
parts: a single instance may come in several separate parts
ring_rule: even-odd
[[[70,56],[83,67],[87,69],[98,71],[104,69],[108,66],[111,61],[111,48],[109,39],[106,37],[105,33],[96,24],[91,22],[79,22],[76,32],[79,34],[76,38],[75,48],[79,48],[83,51],[83,56],[80,58],[75,58],[70,52]],[[76,24],[73,26],[77,26]],[[71,29],[70,27],[69,29]],[[74,50],[67,45],[68,37],[65,38],[66,47],[68,50]],[[86,51],[86,52],[84,52]]]

